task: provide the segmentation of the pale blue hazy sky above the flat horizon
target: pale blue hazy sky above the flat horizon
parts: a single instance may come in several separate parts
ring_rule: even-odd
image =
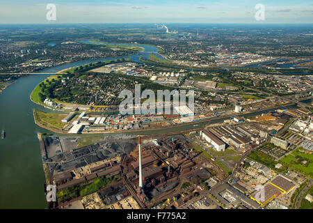
[[[47,4],[56,20],[47,20]],[[264,5],[264,20],[255,6]],[[313,23],[312,0],[0,0],[0,24]]]

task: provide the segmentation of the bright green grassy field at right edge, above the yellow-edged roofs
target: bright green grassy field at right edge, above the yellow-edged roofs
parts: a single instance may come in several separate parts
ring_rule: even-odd
[[[313,154],[302,153],[297,148],[296,151],[283,157],[280,161],[291,169],[299,171],[311,178],[313,177]],[[307,161],[307,164],[303,164],[303,161]]]

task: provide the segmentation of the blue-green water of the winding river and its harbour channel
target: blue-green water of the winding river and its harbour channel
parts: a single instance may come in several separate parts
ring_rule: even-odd
[[[42,70],[42,73],[54,73],[65,68],[81,66],[96,61],[108,61],[129,58],[139,62],[140,56],[148,59],[150,52],[157,48],[148,45],[136,45],[145,48],[145,52],[129,56],[111,57],[67,63],[54,68]],[[158,55],[158,54],[157,54]],[[161,57],[161,56],[160,56]],[[0,128],[6,131],[6,139],[0,139],[0,208],[46,208],[44,194],[45,175],[40,159],[38,132],[51,133],[35,125],[32,109],[47,110],[35,105],[29,99],[31,91],[48,75],[29,75],[17,79],[0,94]],[[259,114],[259,112],[255,113]],[[251,115],[251,114],[250,114]],[[220,118],[210,123],[223,121]],[[150,130],[136,134],[157,134],[179,130],[200,128],[208,122],[198,125],[190,124],[166,130]],[[133,133],[135,134],[135,133]]]

